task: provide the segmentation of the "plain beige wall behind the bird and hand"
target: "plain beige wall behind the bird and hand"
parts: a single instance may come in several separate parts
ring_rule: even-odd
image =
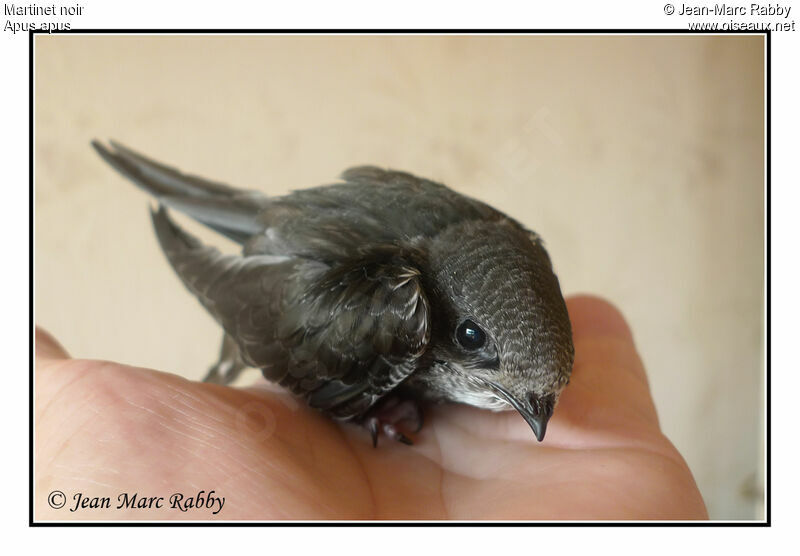
[[[36,321],[74,356],[193,378],[217,354],[92,138],[271,194],[404,169],[615,302],[711,516],[761,518],[763,57],[751,36],[37,35]]]

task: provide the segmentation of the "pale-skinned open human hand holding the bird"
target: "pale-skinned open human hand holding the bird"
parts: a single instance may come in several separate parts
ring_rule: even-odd
[[[71,359],[37,330],[34,517],[707,519],[623,317],[593,297],[567,305],[575,366],[542,443],[516,412],[443,405],[426,408],[414,446],[381,438],[375,449],[366,430],[274,388]],[[216,515],[169,507],[173,493],[212,489],[225,498]],[[71,512],[77,493],[110,507]],[[121,493],[165,501],[117,509]]]

